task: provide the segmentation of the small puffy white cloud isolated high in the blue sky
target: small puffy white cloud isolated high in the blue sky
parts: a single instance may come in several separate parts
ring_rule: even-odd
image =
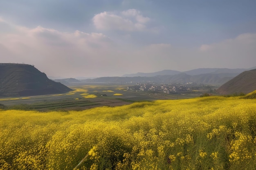
[[[128,9],[121,13],[105,11],[94,15],[92,21],[98,30],[145,31],[150,18],[136,9]]]

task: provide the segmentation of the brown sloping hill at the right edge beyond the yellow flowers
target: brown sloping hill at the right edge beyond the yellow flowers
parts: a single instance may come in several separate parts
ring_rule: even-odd
[[[250,93],[256,90],[256,69],[244,71],[217,89],[221,95]]]

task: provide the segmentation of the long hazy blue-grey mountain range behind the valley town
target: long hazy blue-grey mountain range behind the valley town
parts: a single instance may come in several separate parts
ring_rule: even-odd
[[[253,67],[256,68],[256,67]],[[95,79],[84,79],[81,82],[105,82],[105,83],[121,83],[126,82],[155,82],[155,83],[182,83],[182,82],[195,82],[203,84],[224,84],[230,79],[236,77],[243,71],[251,70],[253,68],[198,68],[190,71],[173,71],[163,70],[154,73],[136,73],[126,74],[122,77],[99,77]]]

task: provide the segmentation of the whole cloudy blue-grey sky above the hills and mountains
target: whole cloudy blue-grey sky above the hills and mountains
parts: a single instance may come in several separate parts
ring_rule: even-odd
[[[256,66],[256,0],[1,0],[0,63],[48,77]]]

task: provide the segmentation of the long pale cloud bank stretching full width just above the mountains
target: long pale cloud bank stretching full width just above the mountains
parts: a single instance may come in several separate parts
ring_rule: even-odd
[[[256,66],[256,34],[252,33],[188,49],[168,43],[135,46],[115,42],[102,33],[62,32],[43,26],[26,28],[8,22],[0,24],[0,30],[6,26],[11,29],[0,33],[1,62],[33,64],[52,76],[121,76],[164,69]]]

